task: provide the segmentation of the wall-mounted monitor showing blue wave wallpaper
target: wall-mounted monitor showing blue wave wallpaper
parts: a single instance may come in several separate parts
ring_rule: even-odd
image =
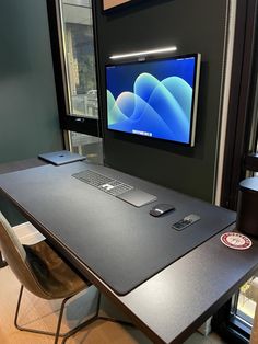
[[[106,66],[107,128],[195,145],[200,54]]]

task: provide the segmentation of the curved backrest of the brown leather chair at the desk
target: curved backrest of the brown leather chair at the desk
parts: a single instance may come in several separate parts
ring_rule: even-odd
[[[38,297],[49,298],[26,263],[26,251],[1,211],[0,249],[4,260],[23,286]]]

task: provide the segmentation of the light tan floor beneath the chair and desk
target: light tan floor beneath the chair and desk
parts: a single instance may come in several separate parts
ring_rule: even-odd
[[[16,299],[20,284],[16,277],[7,266],[0,270],[0,343],[1,344],[50,344],[52,337],[21,332],[13,324],[13,317],[16,307]],[[67,331],[82,321],[85,314],[94,313],[97,291],[90,287],[86,293],[81,293],[67,307],[62,330]],[[34,326],[42,330],[55,331],[57,321],[57,310],[59,301],[46,301],[34,297],[31,293],[24,291],[20,313],[20,324]],[[102,314],[116,317],[122,316],[105,298],[102,300]],[[61,341],[59,341],[61,342]],[[67,341],[68,344],[150,344],[151,342],[136,328],[121,326],[118,323],[108,321],[97,321],[86,330],[80,331]],[[195,333],[186,344],[222,344],[223,342],[215,335],[203,336]]]

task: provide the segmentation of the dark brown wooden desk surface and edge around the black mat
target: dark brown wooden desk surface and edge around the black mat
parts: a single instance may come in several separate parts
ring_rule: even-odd
[[[119,175],[118,172],[117,174]],[[227,301],[258,267],[258,244],[256,242],[247,251],[234,251],[220,242],[221,233],[219,233],[132,291],[119,296],[86,265],[86,262],[79,259],[78,252],[72,250],[70,237],[74,236],[74,231],[71,229],[68,236],[68,232],[50,225],[59,217],[59,223],[64,226],[69,219],[69,208],[62,209],[62,214],[54,214],[52,218],[49,214],[44,215],[46,204],[40,199],[40,195],[36,200],[37,205],[35,205],[34,197],[31,200],[24,197],[24,193],[27,192],[30,195],[30,191],[26,190],[22,179],[19,179],[22,175],[24,176],[20,172],[15,174],[15,179],[13,179],[13,174],[0,175],[2,192],[52,242],[59,252],[64,254],[102,293],[110,297],[131,318],[131,321],[155,343],[184,342]],[[140,184],[144,183],[139,181]],[[21,192],[23,187],[24,192]],[[159,186],[155,187],[159,191]],[[77,211],[72,195],[70,200],[71,209]],[[43,207],[44,211],[40,211],[40,216],[35,211],[35,206],[37,209]],[[68,215],[64,215],[64,210],[68,211]],[[52,209],[52,213],[56,211],[60,211],[60,205],[57,206],[57,209]],[[71,221],[69,221],[70,225]],[[233,226],[224,231],[231,229]]]

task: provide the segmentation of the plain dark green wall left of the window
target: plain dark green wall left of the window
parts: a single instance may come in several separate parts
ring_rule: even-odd
[[[62,148],[46,1],[0,1],[0,163]]]

